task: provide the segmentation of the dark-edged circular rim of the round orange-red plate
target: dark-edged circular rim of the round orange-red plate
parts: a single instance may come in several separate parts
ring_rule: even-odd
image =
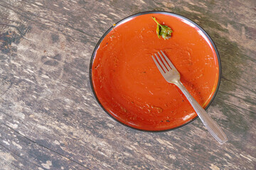
[[[205,110],[210,106],[210,104],[213,102],[215,96],[217,95],[218,93],[218,89],[220,87],[220,79],[222,77],[221,73],[222,73],[222,70],[221,70],[221,62],[220,62],[220,55],[218,53],[218,49],[215,45],[215,43],[213,42],[213,40],[210,38],[210,35],[208,35],[208,33],[206,33],[205,30],[203,30],[203,28],[201,28],[201,26],[199,26],[197,23],[194,23],[193,21],[191,21],[190,19],[186,18],[185,16],[181,16],[179,14],[176,14],[176,13],[172,13],[172,12],[169,12],[169,11],[144,11],[144,12],[140,12],[140,13],[135,13],[135,14],[132,14],[131,16],[127,16],[126,18],[123,18],[122,20],[118,21],[117,23],[115,23],[115,25],[111,26],[103,35],[102,37],[100,38],[100,40],[97,42],[97,45],[95,46],[95,49],[93,50],[92,52],[92,57],[90,59],[90,67],[89,67],[89,77],[90,77],[90,86],[91,86],[91,89],[92,89],[92,93],[93,95],[95,96],[96,98],[96,101],[97,103],[100,104],[100,107],[103,109],[103,111],[105,111],[108,115],[110,115],[111,118],[113,118],[114,120],[116,120],[118,123],[121,123],[122,125],[125,125],[127,126],[128,128],[132,128],[134,130],[140,130],[140,131],[144,131],[144,132],[166,132],[166,131],[169,131],[169,130],[175,130],[175,129],[178,129],[178,128],[181,128],[183,127],[184,125],[188,125],[188,123],[191,123],[193,122],[193,120],[196,120],[196,118],[198,118],[198,115],[191,119],[190,121],[180,125],[180,126],[177,126],[175,128],[170,128],[170,129],[166,129],[166,130],[143,130],[143,129],[139,129],[139,128],[134,128],[132,126],[129,126],[125,123],[122,123],[121,121],[117,120],[117,118],[114,118],[113,115],[111,115],[103,106],[102,104],[100,103],[100,100],[99,98],[97,98],[97,95],[96,95],[96,92],[95,92],[95,89],[93,87],[93,84],[92,84],[92,63],[93,63],[93,60],[95,59],[95,52],[97,51],[98,47],[100,46],[100,43],[102,42],[102,40],[105,38],[105,36],[110,33],[110,31],[114,28],[114,26],[118,26],[119,23],[122,23],[124,21],[127,21],[129,18],[132,18],[132,17],[135,17],[135,16],[141,16],[141,15],[144,15],[144,14],[148,14],[148,13],[162,13],[162,14],[166,14],[166,15],[171,15],[171,16],[177,16],[179,18],[183,18],[185,19],[186,21],[189,21],[191,23],[193,23],[195,26],[197,26],[200,30],[203,31],[203,33],[206,35],[206,37],[208,38],[208,40],[210,40],[210,43],[211,45],[213,45],[213,48],[215,50],[215,53],[217,55],[217,58],[218,58],[218,65],[219,65],[219,76],[218,76],[218,84],[217,84],[217,87],[215,89],[215,92],[213,94],[213,97],[211,98],[210,102],[208,103],[208,105],[206,106]]]

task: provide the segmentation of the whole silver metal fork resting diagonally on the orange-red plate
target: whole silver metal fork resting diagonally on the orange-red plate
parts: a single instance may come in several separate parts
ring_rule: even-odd
[[[176,86],[178,86],[179,89],[181,89],[186,98],[188,98],[188,101],[189,103],[191,103],[193,109],[196,111],[198,117],[202,120],[203,125],[206,126],[210,134],[213,135],[213,137],[215,138],[215,140],[217,140],[221,145],[227,142],[228,138],[226,137],[225,133],[220,129],[217,123],[215,123],[215,121],[212,118],[210,118],[210,116],[201,107],[201,105],[193,98],[193,96],[191,96],[191,94],[188,93],[185,86],[183,86],[180,80],[181,76],[178,70],[174,67],[174,64],[171,63],[171,61],[164,54],[164,52],[161,51],[161,54],[164,57],[162,57],[160,52],[158,52],[158,54],[159,57],[158,55],[154,54],[156,56],[156,59],[153,55],[151,57],[154,60],[156,67],[163,75],[164,79],[166,79],[166,81],[168,81],[171,84],[175,84]]]

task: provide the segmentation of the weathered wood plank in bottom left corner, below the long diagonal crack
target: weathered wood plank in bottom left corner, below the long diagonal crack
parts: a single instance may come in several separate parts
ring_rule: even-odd
[[[19,169],[87,169],[1,123],[1,154]],[[43,141],[41,141],[43,142]],[[58,147],[58,142],[53,145]]]

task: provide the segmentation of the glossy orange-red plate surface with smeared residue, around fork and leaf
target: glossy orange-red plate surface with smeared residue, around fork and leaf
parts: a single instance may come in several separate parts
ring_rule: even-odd
[[[174,30],[169,40],[157,37],[152,16]],[[196,118],[186,97],[161,76],[151,59],[159,50],[174,63],[181,82],[204,108],[218,86],[218,57],[193,24],[159,13],[117,24],[95,53],[92,84],[102,106],[133,128],[168,130]]]

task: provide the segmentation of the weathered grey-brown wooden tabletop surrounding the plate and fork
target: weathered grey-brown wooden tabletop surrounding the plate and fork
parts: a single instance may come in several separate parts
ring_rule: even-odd
[[[171,11],[213,38],[223,77],[208,113],[169,132],[116,123],[90,89],[97,41],[124,17]],[[0,169],[256,169],[256,1],[0,1]]]

